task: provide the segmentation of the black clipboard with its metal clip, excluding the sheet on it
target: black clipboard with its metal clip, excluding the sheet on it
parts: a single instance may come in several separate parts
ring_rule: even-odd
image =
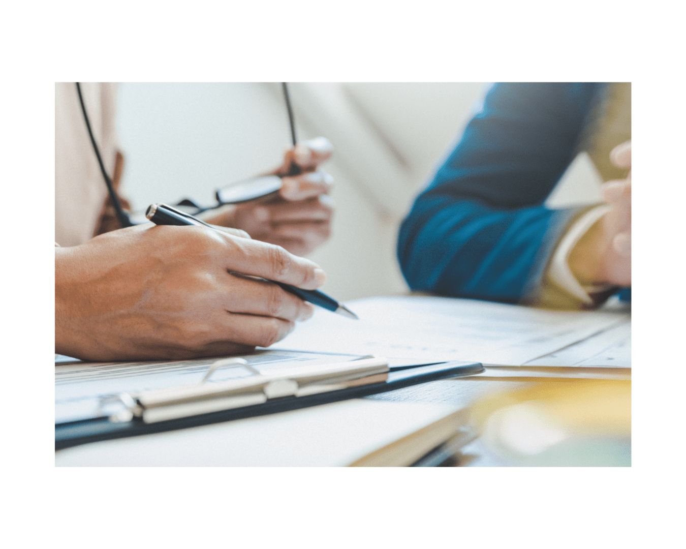
[[[221,364],[215,363],[203,381],[217,365]],[[296,368],[279,375],[256,375],[221,384],[124,393],[119,395],[121,412],[56,423],[55,449],[307,408],[483,371],[484,366],[479,362],[417,361],[416,364],[389,366],[385,358],[365,357],[320,365],[316,369]],[[188,406],[184,409],[184,405]],[[213,406],[220,409],[212,409]],[[146,412],[152,413],[146,416]]]

